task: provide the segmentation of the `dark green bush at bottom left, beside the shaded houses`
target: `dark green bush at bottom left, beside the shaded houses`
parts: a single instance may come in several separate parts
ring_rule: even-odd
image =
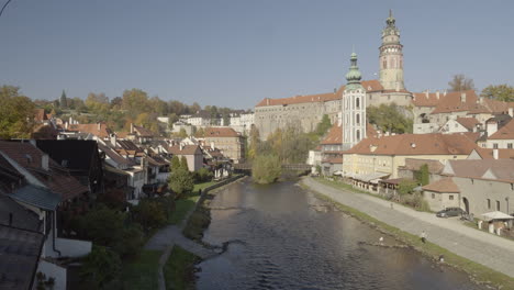
[[[91,253],[83,259],[80,277],[96,289],[101,289],[119,277],[121,265],[116,253],[102,246],[93,246]]]

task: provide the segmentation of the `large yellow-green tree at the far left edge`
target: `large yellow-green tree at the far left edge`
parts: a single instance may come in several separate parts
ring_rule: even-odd
[[[19,91],[18,87],[0,87],[0,138],[31,137],[35,105]]]

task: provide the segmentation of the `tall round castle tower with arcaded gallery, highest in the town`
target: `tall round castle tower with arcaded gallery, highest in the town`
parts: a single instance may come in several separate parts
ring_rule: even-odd
[[[386,90],[403,90],[403,45],[400,43],[400,30],[396,20],[389,10],[386,29],[382,31],[380,46],[380,83]]]

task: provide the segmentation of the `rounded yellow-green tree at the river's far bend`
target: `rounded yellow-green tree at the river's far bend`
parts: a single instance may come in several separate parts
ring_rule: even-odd
[[[252,178],[257,183],[272,183],[281,174],[282,165],[277,155],[257,156],[252,164]]]

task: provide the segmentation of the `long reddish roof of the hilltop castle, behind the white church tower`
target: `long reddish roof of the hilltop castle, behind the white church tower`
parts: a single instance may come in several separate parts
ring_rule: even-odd
[[[372,79],[372,80],[364,80],[360,82],[367,92],[372,91],[382,91],[383,87],[380,85],[380,81]],[[342,98],[342,93],[345,90],[345,86],[339,87],[336,92],[326,92],[326,93],[315,93],[315,94],[306,94],[306,96],[295,96],[290,98],[282,98],[282,99],[269,99],[265,98],[255,107],[266,107],[266,105],[283,105],[283,104],[293,104],[293,103],[309,103],[309,102],[326,102],[326,101],[334,101],[339,100]]]

